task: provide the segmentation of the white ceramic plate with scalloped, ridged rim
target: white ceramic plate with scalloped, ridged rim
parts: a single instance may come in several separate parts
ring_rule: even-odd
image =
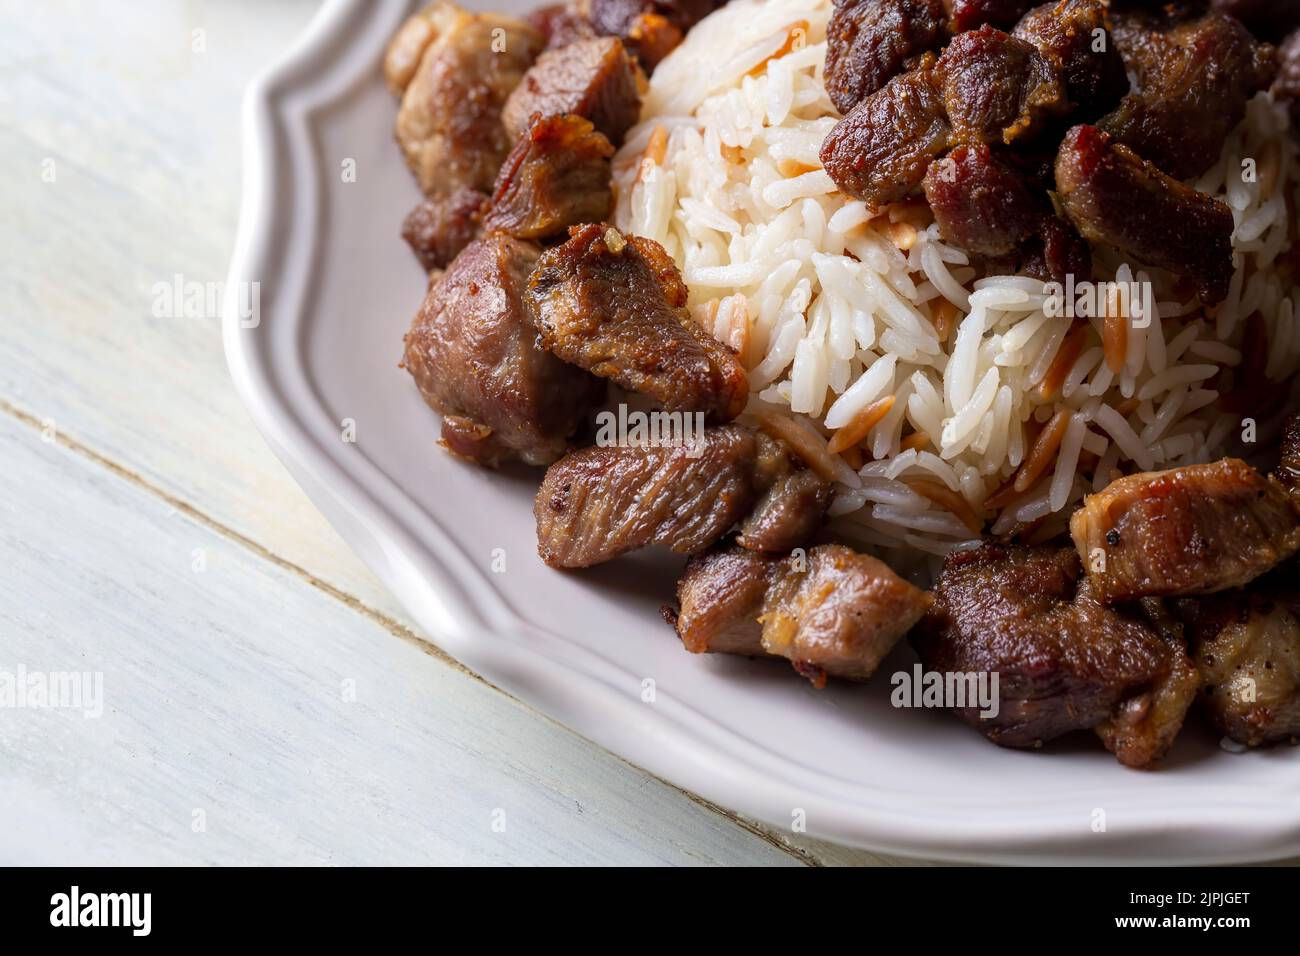
[[[468,5],[489,3],[529,7]],[[842,843],[980,861],[1300,853],[1294,748],[1238,756],[1187,732],[1156,773],[1124,770],[1087,737],[1002,750],[946,714],[890,708],[885,675],[910,667],[906,648],[868,687],[818,692],[779,663],[682,652],[658,614],[676,562],[546,568],[538,473],[494,473],[438,449],[434,415],[396,367],[424,276],[398,234],[419,196],[380,59],[410,7],[328,4],[250,88],[228,287],[260,282],[261,313],[244,328],[230,295],[224,332],[272,447],[441,646],[681,787],[779,827],[803,818]],[[355,444],[341,440],[343,419]]]

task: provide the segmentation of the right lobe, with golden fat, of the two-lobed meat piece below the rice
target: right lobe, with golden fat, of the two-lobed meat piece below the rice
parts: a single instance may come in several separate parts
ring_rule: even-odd
[[[786,558],[768,587],[763,649],[819,687],[828,674],[866,680],[932,601],[881,561],[819,545]]]

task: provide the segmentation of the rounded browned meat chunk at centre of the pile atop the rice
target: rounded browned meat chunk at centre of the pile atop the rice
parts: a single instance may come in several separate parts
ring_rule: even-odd
[[[935,77],[953,138],[963,143],[1031,138],[1070,108],[1056,68],[1034,44],[991,26],[956,36]]]

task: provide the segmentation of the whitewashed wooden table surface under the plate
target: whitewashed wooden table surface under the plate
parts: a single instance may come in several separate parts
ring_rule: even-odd
[[[0,0],[0,864],[900,864],[738,819],[417,635],[263,444],[216,311],[240,94],[309,0]],[[425,641],[433,641],[429,644]]]

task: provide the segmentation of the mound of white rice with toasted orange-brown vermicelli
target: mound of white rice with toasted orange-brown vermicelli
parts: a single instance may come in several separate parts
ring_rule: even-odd
[[[1049,316],[1043,282],[978,277],[923,200],[872,215],[836,189],[818,159],[840,118],[823,78],[831,12],[732,0],[696,26],[615,157],[615,222],[664,246],[696,319],[740,351],[746,414],[836,479],[837,531],[931,555],[976,544],[984,516],[984,532],[1048,537],[1121,472],[1238,449],[1251,408],[1223,401],[1238,385],[1262,376],[1296,398],[1284,108],[1252,100],[1196,183],[1236,222],[1227,299],[1202,310],[1186,284],[1095,247],[1098,280],[1149,282],[1156,315],[1112,300],[1118,336],[1102,317],[1072,333],[1082,320]],[[1256,440],[1278,427],[1256,423]],[[867,431],[841,449],[840,429]]]

